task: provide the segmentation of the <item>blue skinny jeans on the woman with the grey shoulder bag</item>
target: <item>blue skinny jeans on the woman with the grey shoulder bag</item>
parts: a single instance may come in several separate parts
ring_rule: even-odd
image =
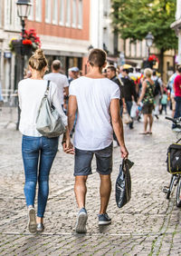
[[[24,161],[24,195],[27,206],[34,205],[38,181],[37,216],[43,218],[49,193],[49,174],[57,153],[58,139],[23,135],[22,155]]]

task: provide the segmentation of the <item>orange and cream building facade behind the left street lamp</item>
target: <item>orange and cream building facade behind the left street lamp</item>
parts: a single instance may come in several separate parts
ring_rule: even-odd
[[[0,80],[5,100],[14,93],[18,83],[18,62],[9,48],[12,38],[21,38],[15,2],[0,0]],[[65,74],[71,66],[78,66],[84,72],[90,45],[90,0],[32,0],[25,21],[25,29],[31,28],[40,36],[49,65],[52,60],[60,59]]]

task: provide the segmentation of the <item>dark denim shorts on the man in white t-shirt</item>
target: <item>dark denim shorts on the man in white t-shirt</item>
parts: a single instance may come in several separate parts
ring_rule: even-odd
[[[91,161],[96,156],[96,171],[102,175],[109,175],[112,172],[112,143],[102,150],[86,151],[75,148],[74,176],[87,176],[92,174]]]

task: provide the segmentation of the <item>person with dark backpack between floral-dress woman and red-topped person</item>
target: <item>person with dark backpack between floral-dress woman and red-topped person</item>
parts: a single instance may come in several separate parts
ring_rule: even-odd
[[[162,86],[162,81],[161,78],[157,76],[156,71],[153,71],[153,74],[151,76],[151,80],[154,81],[155,83],[155,90],[154,90],[154,102],[155,102],[155,111],[154,115],[158,119],[158,114],[159,114],[159,100],[160,100],[160,95],[161,95],[161,86]]]

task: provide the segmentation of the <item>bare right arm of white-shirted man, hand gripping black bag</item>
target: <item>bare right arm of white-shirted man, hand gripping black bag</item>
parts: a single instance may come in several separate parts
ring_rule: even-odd
[[[119,99],[112,99],[110,103],[110,116],[114,133],[119,141],[121,157],[127,158],[129,152],[124,143],[124,132],[119,112]]]

